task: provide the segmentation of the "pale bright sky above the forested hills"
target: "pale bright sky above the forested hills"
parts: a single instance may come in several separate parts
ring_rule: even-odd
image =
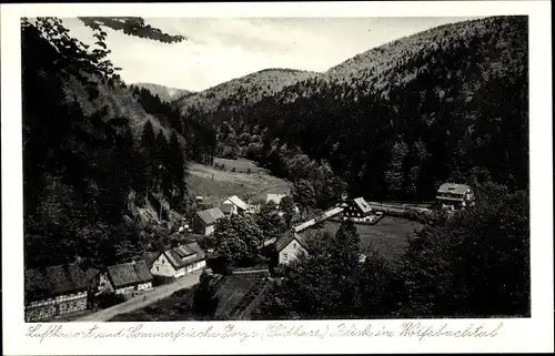
[[[323,72],[357,53],[426,29],[468,18],[145,18],[179,43],[105,30],[110,60],[127,83],[201,91],[269,68]],[[62,19],[92,44],[92,30]]]

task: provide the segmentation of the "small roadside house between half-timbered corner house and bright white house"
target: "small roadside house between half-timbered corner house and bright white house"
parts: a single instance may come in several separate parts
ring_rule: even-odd
[[[100,274],[100,288],[124,297],[132,297],[151,291],[152,279],[147,262],[133,261],[107,267],[105,272]]]

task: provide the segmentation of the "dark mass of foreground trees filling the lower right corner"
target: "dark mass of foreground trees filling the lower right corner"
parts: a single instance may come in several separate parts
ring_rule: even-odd
[[[529,316],[528,194],[490,182],[478,196],[475,208],[430,221],[397,264],[363,251],[352,223],[320,234],[253,318]]]

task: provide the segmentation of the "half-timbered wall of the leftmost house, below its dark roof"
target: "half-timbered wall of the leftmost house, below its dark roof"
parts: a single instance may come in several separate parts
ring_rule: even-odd
[[[39,322],[58,315],[87,309],[87,291],[31,302],[26,306],[26,322]]]

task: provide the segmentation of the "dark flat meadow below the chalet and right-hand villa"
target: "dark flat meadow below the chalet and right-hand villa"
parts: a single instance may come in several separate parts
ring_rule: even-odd
[[[335,234],[339,227],[340,223],[325,222],[323,228]],[[393,216],[385,216],[375,225],[356,225],[361,236],[361,246],[375,250],[390,261],[397,261],[401,257],[408,245],[407,237],[421,227],[422,224],[418,222]]]

